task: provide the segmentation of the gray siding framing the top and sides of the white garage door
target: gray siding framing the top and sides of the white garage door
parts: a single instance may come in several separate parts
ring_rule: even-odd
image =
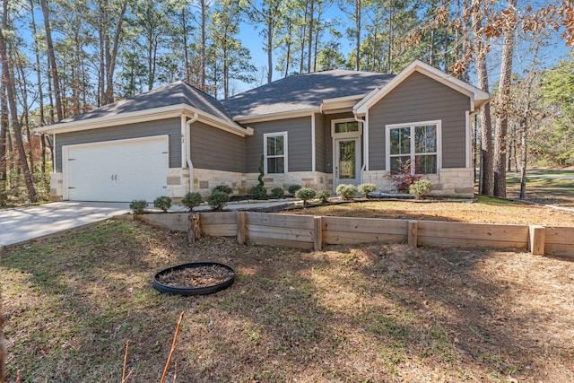
[[[181,119],[167,118],[126,126],[109,126],[56,135],[56,171],[62,171],[62,146],[170,135],[170,168],[181,167]]]

